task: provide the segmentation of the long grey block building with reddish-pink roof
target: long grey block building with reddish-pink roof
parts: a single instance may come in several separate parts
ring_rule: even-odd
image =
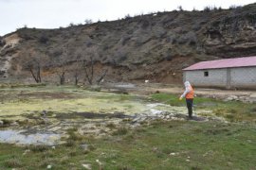
[[[183,69],[197,87],[256,89],[256,57],[202,61]]]

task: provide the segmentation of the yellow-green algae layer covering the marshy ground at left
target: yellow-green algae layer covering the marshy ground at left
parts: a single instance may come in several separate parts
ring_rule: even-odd
[[[23,95],[19,95],[22,92]],[[22,88],[12,91],[1,90],[1,93],[11,93],[9,100],[2,98],[0,115],[2,118],[22,119],[26,114],[47,112],[123,112],[139,113],[146,110],[143,100],[136,95],[89,92],[80,89],[37,89]],[[26,94],[27,93],[27,94]],[[23,96],[23,98],[15,97]],[[28,95],[30,94],[30,95]],[[46,98],[46,94],[49,96]],[[63,97],[60,96],[70,96]]]

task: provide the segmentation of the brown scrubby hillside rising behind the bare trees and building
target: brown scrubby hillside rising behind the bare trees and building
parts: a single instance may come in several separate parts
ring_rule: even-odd
[[[256,55],[256,4],[229,9],[157,12],[112,22],[57,29],[21,28],[0,38],[1,80],[33,80],[27,61],[38,60],[43,81],[79,74],[93,59],[95,76],[109,81],[180,83],[192,63]],[[35,66],[33,65],[33,68]],[[29,69],[28,69],[29,70]]]

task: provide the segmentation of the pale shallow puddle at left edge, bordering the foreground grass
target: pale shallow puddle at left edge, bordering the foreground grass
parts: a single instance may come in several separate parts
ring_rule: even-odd
[[[0,130],[0,143],[53,145],[60,142],[60,139],[60,134],[55,134],[52,132],[24,134],[24,131],[22,130]]]

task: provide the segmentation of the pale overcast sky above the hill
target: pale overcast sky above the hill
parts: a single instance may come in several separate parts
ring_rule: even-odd
[[[255,0],[0,0],[0,36],[24,26],[58,28],[93,22],[112,21],[127,14],[147,14],[205,7],[244,6]]]

